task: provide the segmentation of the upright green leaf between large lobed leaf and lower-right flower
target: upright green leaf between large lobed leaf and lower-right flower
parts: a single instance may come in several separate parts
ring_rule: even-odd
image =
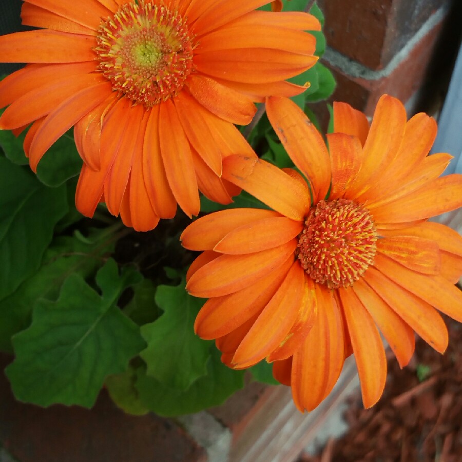
[[[159,286],[156,303],[164,314],[141,328],[148,344],[140,353],[147,365],[146,374],[177,390],[186,390],[207,373],[210,356],[210,341],[194,333],[194,321],[204,300],[190,296],[184,286],[184,280],[177,286]]]

